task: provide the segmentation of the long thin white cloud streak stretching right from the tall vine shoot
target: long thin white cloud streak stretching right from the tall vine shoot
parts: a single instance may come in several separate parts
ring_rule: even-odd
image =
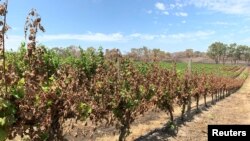
[[[182,21],[186,22],[186,21]],[[80,40],[80,41],[100,41],[100,42],[119,42],[129,41],[135,39],[142,40],[158,40],[158,39],[191,39],[202,38],[213,35],[214,31],[196,31],[188,33],[176,33],[176,34],[144,34],[133,33],[123,35],[121,33],[88,33],[88,34],[59,34],[59,35],[43,35],[38,37],[39,42],[58,41],[58,40]]]

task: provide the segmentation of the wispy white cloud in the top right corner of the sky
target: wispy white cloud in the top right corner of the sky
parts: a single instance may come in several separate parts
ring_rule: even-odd
[[[189,4],[226,14],[250,14],[250,0],[190,0]]]

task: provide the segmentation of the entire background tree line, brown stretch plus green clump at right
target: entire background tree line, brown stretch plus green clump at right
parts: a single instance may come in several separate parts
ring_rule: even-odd
[[[101,47],[102,48],[102,47]],[[87,50],[93,50],[94,47],[89,47]],[[51,50],[56,53],[67,56],[72,53],[75,56],[79,56],[81,47],[71,45],[66,48],[54,47]],[[206,60],[210,58],[207,63],[212,63],[212,60],[216,64],[249,64],[250,63],[250,47],[247,45],[237,45],[236,43],[224,44],[222,42],[214,42],[209,47],[207,52],[194,51],[193,49],[186,49],[179,52],[166,52],[161,49],[150,49],[146,46],[141,48],[132,48],[127,53],[121,53],[119,49],[106,49],[104,56],[108,59],[114,58],[116,55],[130,58],[134,61],[154,62],[154,61],[183,61],[189,58],[202,58]],[[203,62],[203,61],[201,61]]]

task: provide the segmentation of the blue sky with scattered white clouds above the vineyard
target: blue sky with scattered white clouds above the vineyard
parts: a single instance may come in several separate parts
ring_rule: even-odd
[[[147,46],[206,51],[215,42],[250,45],[250,0],[9,0],[7,48],[24,40],[30,9],[42,17],[48,47]]]

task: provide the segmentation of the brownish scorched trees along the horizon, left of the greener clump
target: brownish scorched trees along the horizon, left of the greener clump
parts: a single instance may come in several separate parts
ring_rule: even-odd
[[[100,47],[102,48],[102,47]],[[94,47],[89,47],[86,50],[93,50]],[[57,54],[61,56],[67,56],[69,53],[73,54],[74,56],[78,57],[80,55],[80,46],[68,46],[66,48],[61,47],[54,47],[51,50],[55,51]],[[185,51],[180,52],[166,52],[161,49],[150,49],[146,46],[141,48],[132,48],[127,53],[121,53],[119,49],[106,49],[104,51],[104,55],[106,59],[114,58],[115,56],[123,56],[126,58],[130,58],[134,61],[143,61],[143,62],[153,62],[153,61],[172,61],[180,58],[190,58],[190,57],[206,57],[205,52],[201,51],[194,51],[193,49],[186,49]]]

